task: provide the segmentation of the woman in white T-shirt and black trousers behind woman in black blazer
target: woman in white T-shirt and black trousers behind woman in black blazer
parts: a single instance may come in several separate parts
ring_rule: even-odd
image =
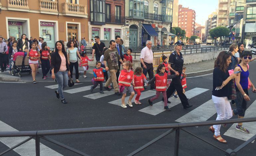
[[[70,40],[67,42],[67,62],[69,64],[69,70],[70,70],[70,76],[72,78],[73,76],[73,67],[75,67],[75,79],[76,82],[79,83],[80,81],[78,80],[79,78],[79,71],[78,71],[78,60],[77,56],[81,60],[81,56],[79,54],[79,51],[77,47],[75,47],[75,41]]]

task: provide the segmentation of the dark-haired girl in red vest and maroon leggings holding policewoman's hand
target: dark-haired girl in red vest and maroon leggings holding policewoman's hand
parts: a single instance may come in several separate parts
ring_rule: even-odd
[[[167,111],[171,111],[171,109],[167,106],[167,96],[166,96],[166,87],[167,87],[167,79],[172,79],[176,77],[175,74],[174,75],[168,75],[165,72],[165,65],[160,64],[157,67],[157,74],[155,75],[155,77],[151,80],[148,81],[148,84],[154,83],[155,82],[155,87],[156,87],[156,96],[148,99],[148,103],[150,106],[153,106],[153,101],[158,99],[160,93],[162,92],[163,97],[164,97],[164,109]]]

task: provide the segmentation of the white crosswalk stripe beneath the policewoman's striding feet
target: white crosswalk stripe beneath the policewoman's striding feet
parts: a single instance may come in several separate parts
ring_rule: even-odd
[[[189,91],[186,92],[186,96],[187,98],[193,98],[203,92],[206,92],[208,91],[209,89],[204,89],[204,88],[193,88]],[[168,100],[171,101],[171,104],[169,104],[169,108],[172,108],[178,104],[181,103],[181,100],[180,99],[175,99],[175,98],[172,98],[170,97]],[[164,112],[164,102],[163,101],[160,101],[158,103],[155,103],[153,106],[148,106],[146,108],[143,108],[141,110],[139,110],[140,112],[143,112],[143,113],[147,113],[147,114],[150,114],[150,115],[153,115],[153,116],[156,116],[158,115],[159,113],[162,113]]]

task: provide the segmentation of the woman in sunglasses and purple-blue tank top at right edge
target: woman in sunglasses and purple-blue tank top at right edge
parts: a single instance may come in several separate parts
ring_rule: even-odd
[[[238,115],[238,118],[244,118],[244,114],[247,108],[247,102],[250,101],[248,95],[248,83],[251,83],[252,92],[256,92],[254,85],[249,78],[248,63],[252,59],[252,53],[250,51],[243,51],[239,64],[235,67],[234,72],[242,70],[241,74],[235,78],[235,88],[236,88],[236,109],[233,110],[233,115]],[[236,130],[242,131],[244,133],[249,133],[243,123],[238,123],[236,125]]]

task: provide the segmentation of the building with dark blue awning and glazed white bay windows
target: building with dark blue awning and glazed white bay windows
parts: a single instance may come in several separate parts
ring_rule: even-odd
[[[157,40],[169,44],[173,6],[174,0],[125,0],[125,42],[129,46],[145,46],[147,40],[153,45]]]

